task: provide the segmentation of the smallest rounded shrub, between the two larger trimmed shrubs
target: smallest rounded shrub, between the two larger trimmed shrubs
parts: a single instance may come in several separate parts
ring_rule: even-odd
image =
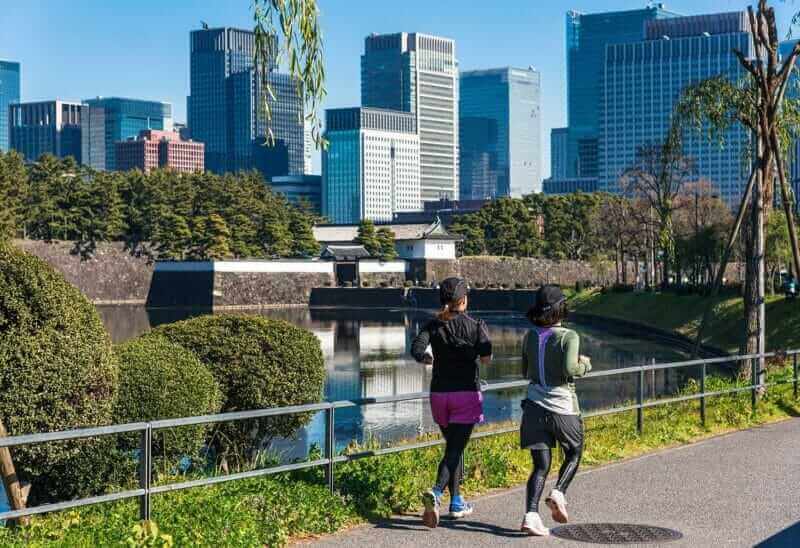
[[[120,364],[115,422],[212,415],[222,408],[214,376],[182,346],[153,336],[128,341],[115,350]],[[153,455],[168,459],[198,455],[207,430],[207,426],[186,426],[154,432]]]

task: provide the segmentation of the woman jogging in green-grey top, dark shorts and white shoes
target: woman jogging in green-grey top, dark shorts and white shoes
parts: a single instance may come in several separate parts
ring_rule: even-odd
[[[565,493],[583,453],[583,420],[574,379],[588,373],[592,365],[579,353],[578,334],[561,325],[566,317],[567,299],[561,288],[546,285],[536,292],[536,301],[528,311],[534,327],[522,345],[522,373],[530,384],[522,402],[520,445],[531,451],[533,470],[528,478],[521,530],[529,535],[550,534],[539,515],[539,501],[550,472],[552,449],[558,443],[564,451],[564,463],[545,502],[559,523],[568,520]]]

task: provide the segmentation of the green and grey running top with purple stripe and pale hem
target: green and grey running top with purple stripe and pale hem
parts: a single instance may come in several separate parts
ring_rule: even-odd
[[[522,363],[525,364],[528,399],[552,413],[580,415],[575,377],[592,369],[587,359],[580,357],[578,334],[564,327],[534,327],[522,343]]]

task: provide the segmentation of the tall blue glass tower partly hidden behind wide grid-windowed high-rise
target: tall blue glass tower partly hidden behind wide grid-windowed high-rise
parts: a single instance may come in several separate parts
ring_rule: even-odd
[[[600,97],[606,47],[642,40],[647,21],[673,17],[664,4],[639,10],[584,14],[567,12],[567,173],[597,177]]]

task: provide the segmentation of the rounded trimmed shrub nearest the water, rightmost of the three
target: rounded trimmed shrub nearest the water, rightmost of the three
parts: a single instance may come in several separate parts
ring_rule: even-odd
[[[163,336],[193,352],[222,391],[222,411],[247,411],[316,403],[322,398],[325,363],[313,333],[260,316],[200,316],[162,325],[146,337]],[[244,457],[274,437],[292,436],[311,414],[220,425],[217,449]],[[221,441],[220,441],[221,440]],[[227,444],[224,444],[227,440]]]

